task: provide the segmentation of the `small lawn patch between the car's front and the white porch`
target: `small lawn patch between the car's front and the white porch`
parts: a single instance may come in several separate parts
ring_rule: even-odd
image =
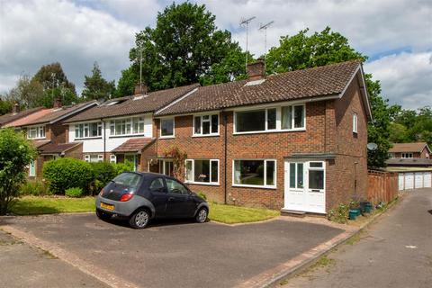
[[[227,224],[255,222],[275,218],[279,211],[210,203],[211,220]]]

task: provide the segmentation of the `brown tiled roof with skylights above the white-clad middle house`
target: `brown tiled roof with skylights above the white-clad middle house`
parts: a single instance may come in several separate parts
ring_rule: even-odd
[[[88,121],[144,112],[155,112],[157,111],[157,109],[160,109],[166,104],[172,103],[184,94],[191,92],[197,86],[199,85],[186,85],[166,90],[150,92],[148,93],[148,95],[141,95],[142,97],[137,97],[139,95],[133,95],[112,99],[99,106],[88,109],[85,112],[81,112],[76,116],[69,118],[65,122]],[[116,101],[120,101],[120,103],[116,103],[113,105],[109,104]]]

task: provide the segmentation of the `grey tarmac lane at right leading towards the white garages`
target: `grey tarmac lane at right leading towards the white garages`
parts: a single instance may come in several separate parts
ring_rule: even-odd
[[[283,287],[432,287],[432,189],[407,192],[357,243],[338,248],[329,259],[330,265]]]

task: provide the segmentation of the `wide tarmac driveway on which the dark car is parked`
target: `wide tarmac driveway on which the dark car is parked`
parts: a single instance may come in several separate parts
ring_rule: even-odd
[[[235,286],[343,232],[290,220],[237,226],[159,221],[135,230],[88,213],[16,217],[3,223],[96,267],[96,275],[100,268],[141,287]]]

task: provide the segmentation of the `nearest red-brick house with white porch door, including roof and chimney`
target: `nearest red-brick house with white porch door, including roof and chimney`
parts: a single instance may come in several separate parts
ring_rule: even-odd
[[[187,153],[184,180],[218,202],[326,213],[365,197],[367,121],[360,61],[199,87],[157,111],[157,159]],[[156,161],[157,160],[157,161]]]

